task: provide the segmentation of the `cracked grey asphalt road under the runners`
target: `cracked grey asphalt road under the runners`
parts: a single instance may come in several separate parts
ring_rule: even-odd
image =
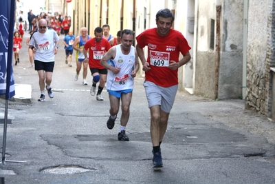
[[[120,112],[108,130],[106,89],[104,101],[96,101],[89,94],[91,72],[88,85],[81,76],[74,81],[75,59],[72,67],[65,64],[63,43],[56,55],[54,99],[37,101],[39,78],[26,47],[20,61],[13,67],[15,83],[32,85],[32,102],[8,105],[12,124],[0,165],[2,183],[275,183],[274,122],[245,110],[243,100],[178,92],[162,143],[164,167],[153,170],[142,76],[135,80],[126,126],[130,141],[121,142]],[[3,114],[3,99],[0,109]]]

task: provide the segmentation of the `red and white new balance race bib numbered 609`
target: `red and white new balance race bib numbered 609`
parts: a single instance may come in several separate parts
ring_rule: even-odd
[[[168,67],[170,61],[169,52],[157,52],[150,50],[150,64],[157,67]]]

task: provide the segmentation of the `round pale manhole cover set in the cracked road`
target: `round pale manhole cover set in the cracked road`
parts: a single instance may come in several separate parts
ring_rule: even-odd
[[[90,169],[80,167],[79,165],[58,165],[55,167],[47,167],[42,169],[42,173],[46,174],[76,174],[80,172],[88,172]]]

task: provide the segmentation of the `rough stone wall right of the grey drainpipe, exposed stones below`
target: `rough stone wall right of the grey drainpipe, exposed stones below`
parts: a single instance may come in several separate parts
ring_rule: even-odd
[[[274,67],[274,0],[252,0],[248,7],[248,65],[245,108],[270,117]]]

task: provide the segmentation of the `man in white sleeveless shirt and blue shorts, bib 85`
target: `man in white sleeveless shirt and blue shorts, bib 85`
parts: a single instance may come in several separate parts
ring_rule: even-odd
[[[123,30],[121,33],[121,44],[113,46],[101,59],[100,64],[107,68],[107,90],[110,99],[110,116],[107,127],[111,130],[115,125],[118,110],[120,117],[120,130],[118,141],[129,141],[126,136],[125,127],[129,121],[130,104],[133,92],[134,77],[140,68],[137,52],[132,46],[134,35],[132,30]],[[111,59],[111,63],[107,63]]]

